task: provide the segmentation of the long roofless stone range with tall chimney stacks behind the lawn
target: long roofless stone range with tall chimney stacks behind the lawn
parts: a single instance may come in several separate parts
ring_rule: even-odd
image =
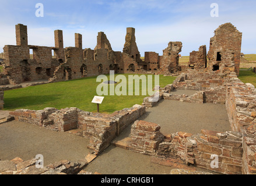
[[[158,74],[178,70],[181,42],[170,42],[163,56],[146,52],[147,60],[143,62],[136,45],[135,28],[127,28],[123,52],[113,51],[103,32],[98,33],[94,49],[82,49],[82,35],[79,33],[75,33],[75,47],[64,48],[62,30],[54,31],[55,47],[41,47],[28,45],[27,26],[17,24],[15,28],[17,45],[5,45],[3,48],[4,71],[0,85],[73,80],[108,74],[110,70],[115,73]]]

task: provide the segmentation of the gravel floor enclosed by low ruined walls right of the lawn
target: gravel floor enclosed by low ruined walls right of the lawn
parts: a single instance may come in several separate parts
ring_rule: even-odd
[[[219,132],[231,130],[226,106],[213,103],[162,100],[157,106],[147,109],[139,120],[159,124],[163,134],[180,131],[199,134],[202,129]]]

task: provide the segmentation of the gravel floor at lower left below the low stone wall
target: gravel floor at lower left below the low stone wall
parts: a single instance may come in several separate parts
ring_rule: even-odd
[[[85,159],[89,140],[78,135],[46,130],[20,121],[0,124],[0,159],[23,160],[44,156],[44,164]]]

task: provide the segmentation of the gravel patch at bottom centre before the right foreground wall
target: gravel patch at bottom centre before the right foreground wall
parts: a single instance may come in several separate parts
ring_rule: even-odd
[[[170,174],[173,169],[151,163],[150,159],[150,156],[109,146],[85,170],[101,174]]]

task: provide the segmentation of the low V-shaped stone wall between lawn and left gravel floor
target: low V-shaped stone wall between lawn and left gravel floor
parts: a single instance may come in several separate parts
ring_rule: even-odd
[[[44,110],[19,109],[9,115],[17,121],[36,124],[50,130],[69,131],[78,128],[83,137],[90,139],[89,149],[102,152],[110,142],[129,124],[146,112],[145,106],[134,105],[132,108],[114,112],[111,115],[84,112],[78,108]]]

